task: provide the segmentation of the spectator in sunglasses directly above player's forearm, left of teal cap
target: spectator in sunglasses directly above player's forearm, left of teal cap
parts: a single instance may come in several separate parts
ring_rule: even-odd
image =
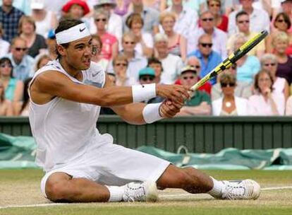
[[[134,77],[127,76],[128,59],[125,55],[119,54],[113,60],[114,74],[116,74],[116,86],[132,86],[137,84]]]

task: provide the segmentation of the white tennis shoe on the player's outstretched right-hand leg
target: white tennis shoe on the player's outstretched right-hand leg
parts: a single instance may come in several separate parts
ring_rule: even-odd
[[[224,180],[221,199],[257,199],[260,185],[254,180]]]

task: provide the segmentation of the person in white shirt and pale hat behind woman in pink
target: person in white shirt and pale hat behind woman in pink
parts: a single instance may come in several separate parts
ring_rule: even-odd
[[[121,37],[123,35],[123,20],[121,16],[114,13],[114,8],[116,8],[115,0],[95,0],[94,4],[95,10],[101,8],[102,10],[109,12],[109,21],[107,24],[107,32],[115,35],[119,42],[121,42]],[[94,19],[90,22],[90,33],[97,33],[95,27]]]

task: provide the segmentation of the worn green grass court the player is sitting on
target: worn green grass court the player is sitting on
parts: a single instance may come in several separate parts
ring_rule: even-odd
[[[169,189],[159,192],[160,201],[156,203],[51,204],[39,190],[41,170],[0,170],[0,214],[292,214],[292,171],[206,173],[220,180],[257,180],[262,187],[261,196],[257,200],[226,201]]]

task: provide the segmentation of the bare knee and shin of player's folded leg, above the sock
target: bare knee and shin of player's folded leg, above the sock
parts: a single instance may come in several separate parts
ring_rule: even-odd
[[[52,173],[45,182],[45,194],[53,202],[107,202],[109,190],[86,178]]]

